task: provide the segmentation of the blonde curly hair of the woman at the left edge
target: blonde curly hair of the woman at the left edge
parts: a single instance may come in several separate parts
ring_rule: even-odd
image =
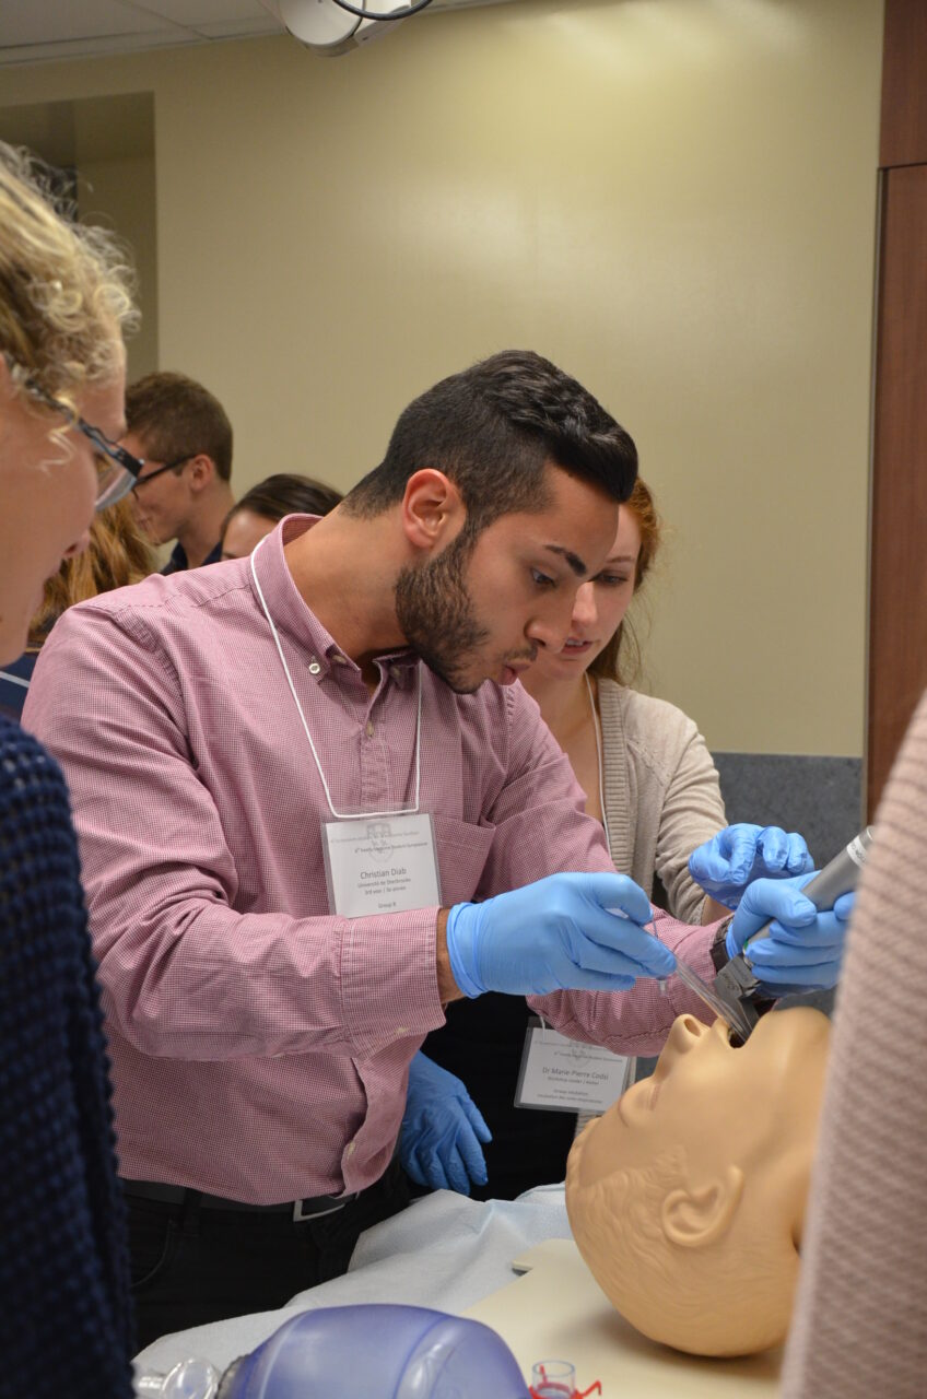
[[[14,382],[32,379],[77,410],[88,385],[119,374],[137,312],[125,249],[73,213],[48,168],[0,141],[0,353]]]

